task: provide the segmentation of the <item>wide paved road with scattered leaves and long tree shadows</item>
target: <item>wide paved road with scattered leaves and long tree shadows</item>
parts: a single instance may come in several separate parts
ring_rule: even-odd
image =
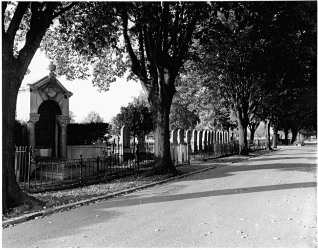
[[[316,173],[317,145],[281,147],[2,229],[2,247],[317,248]]]

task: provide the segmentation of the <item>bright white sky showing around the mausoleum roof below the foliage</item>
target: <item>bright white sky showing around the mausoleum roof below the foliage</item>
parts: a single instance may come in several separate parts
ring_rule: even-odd
[[[48,64],[49,60],[38,50],[29,65],[31,73],[24,77],[22,83],[36,81],[48,74],[46,70]],[[87,81],[66,81],[65,77],[58,79],[68,91],[73,93],[69,99],[69,109],[76,115],[74,118],[76,122],[81,122],[90,110],[98,112],[105,122],[110,122],[111,117],[120,112],[121,106],[126,106],[132,101],[132,97],[138,96],[142,91],[139,82],[127,82],[126,79],[111,83],[109,90],[101,93],[97,91],[97,87],[93,87],[90,79]]]

